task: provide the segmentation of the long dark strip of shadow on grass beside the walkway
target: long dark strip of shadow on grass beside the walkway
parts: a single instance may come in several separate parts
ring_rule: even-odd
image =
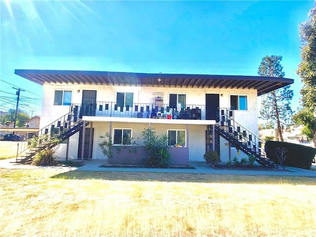
[[[116,171],[68,171],[52,176],[56,179],[140,181],[140,182],[192,182],[192,183],[233,183],[233,184],[290,184],[316,185],[315,177],[194,174],[159,172],[116,172]]]

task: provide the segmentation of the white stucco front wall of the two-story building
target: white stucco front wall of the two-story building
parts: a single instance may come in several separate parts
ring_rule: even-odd
[[[58,90],[72,90],[72,103],[81,103],[82,90],[97,90],[97,101],[101,102],[115,102],[116,92],[134,92],[135,103],[153,103],[155,92],[163,93],[163,104],[169,103],[169,93],[185,93],[187,94],[186,103],[188,105],[205,105],[205,94],[223,94],[220,96],[220,107],[230,108],[230,95],[247,95],[248,97],[248,110],[247,111],[234,111],[235,120],[247,130],[251,131],[258,136],[258,117],[257,117],[257,91],[254,89],[214,89],[214,88],[164,88],[164,87],[130,87],[130,86],[107,86],[107,85],[73,85],[73,84],[44,84],[43,86],[43,102],[42,113],[40,119],[40,128],[46,126],[52,121],[60,118],[69,112],[69,106],[54,106],[54,91]],[[77,92],[79,90],[79,92]],[[128,127],[133,128],[133,137],[139,137],[142,140],[141,132],[146,124],[115,124],[114,127]],[[166,132],[166,127],[163,125],[155,125],[157,133]],[[100,135],[104,135],[109,130],[109,123],[94,122],[94,145],[93,145],[93,158],[104,158],[101,153],[98,143],[100,142]],[[172,128],[186,129],[184,125],[175,125]],[[205,126],[190,125],[190,160],[203,160],[205,153]],[[202,135],[201,135],[202,134]],[[79,133],[75,134],[70,139],[69,158],[77,158],[78,153],[78,140]],[[228,160],[228,146],[225,146],[226,140],[220,140],[221,159]],[[65,146],[61,146],[60,154],[65,154]],[[234,152],[232,149],[232,152]],[[237,151],[236,151],[237,152]],[[232,158],[234,155],[232,154]]]

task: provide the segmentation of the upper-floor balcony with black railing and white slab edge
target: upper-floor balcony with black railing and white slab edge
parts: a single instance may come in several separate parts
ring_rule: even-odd
[[[72,104],[71,110],[81,104]],[[118,105],[116,102],[85,103],[77,112],[79,118],[87,121],[131,121],[177,123],[177,124],[214,124],[214,120],[205,121],[205,105],[173,105],[130,103]],[[170,121],[173,120],[173,121]]]

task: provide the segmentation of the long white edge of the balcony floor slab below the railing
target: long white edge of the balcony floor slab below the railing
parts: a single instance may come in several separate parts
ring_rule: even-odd
[[[216,120],[195,120],[195,119],[162,119],[162,118],[126,118],[126,117],[94,117],[82,116],[83,121],[87,122],[123,122],[123,123],[151,123],[151,124],[194,124],[194,125],[213,125]]]

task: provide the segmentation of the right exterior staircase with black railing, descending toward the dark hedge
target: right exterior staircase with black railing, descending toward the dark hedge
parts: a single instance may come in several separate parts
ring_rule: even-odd
[[[234,144],[237,150],[255,156],[259,164],[269,167],[276,166],[269,158],[266,158],[262,140],[234,120],[234,110],[220,108],[219,113],[215,131],[221,137]]]

